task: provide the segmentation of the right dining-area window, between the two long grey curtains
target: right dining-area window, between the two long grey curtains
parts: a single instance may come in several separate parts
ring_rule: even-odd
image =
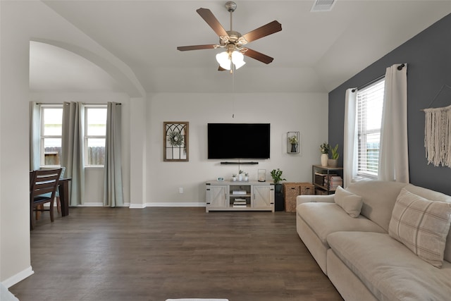
[[[85,106],[85,166],[104,166],[106,106]]]

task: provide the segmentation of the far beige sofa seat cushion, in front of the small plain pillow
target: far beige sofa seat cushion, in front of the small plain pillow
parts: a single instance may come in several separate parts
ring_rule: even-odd
[[[304,203],[297,206],[297,214],[328,247],[327,235],[336,231],[371,231],[385,233],[383,228],[364,216],[352,218],[335,203]]]

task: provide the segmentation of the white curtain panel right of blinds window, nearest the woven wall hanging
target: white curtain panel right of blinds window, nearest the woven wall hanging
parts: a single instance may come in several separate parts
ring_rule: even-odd
[[[409,183],[407,64],[385,72],[378,179]]]

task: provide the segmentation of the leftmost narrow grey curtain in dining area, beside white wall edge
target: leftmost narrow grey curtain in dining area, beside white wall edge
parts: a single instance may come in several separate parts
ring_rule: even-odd
[[[30,102],[30,171],[39,169],[41,140],[41,105]]]

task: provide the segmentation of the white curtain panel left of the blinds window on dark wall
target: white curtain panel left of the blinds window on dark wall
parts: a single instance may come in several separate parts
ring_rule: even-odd
[[[343,186],[357,177],[357,88],[346,90],[343,142]]]

